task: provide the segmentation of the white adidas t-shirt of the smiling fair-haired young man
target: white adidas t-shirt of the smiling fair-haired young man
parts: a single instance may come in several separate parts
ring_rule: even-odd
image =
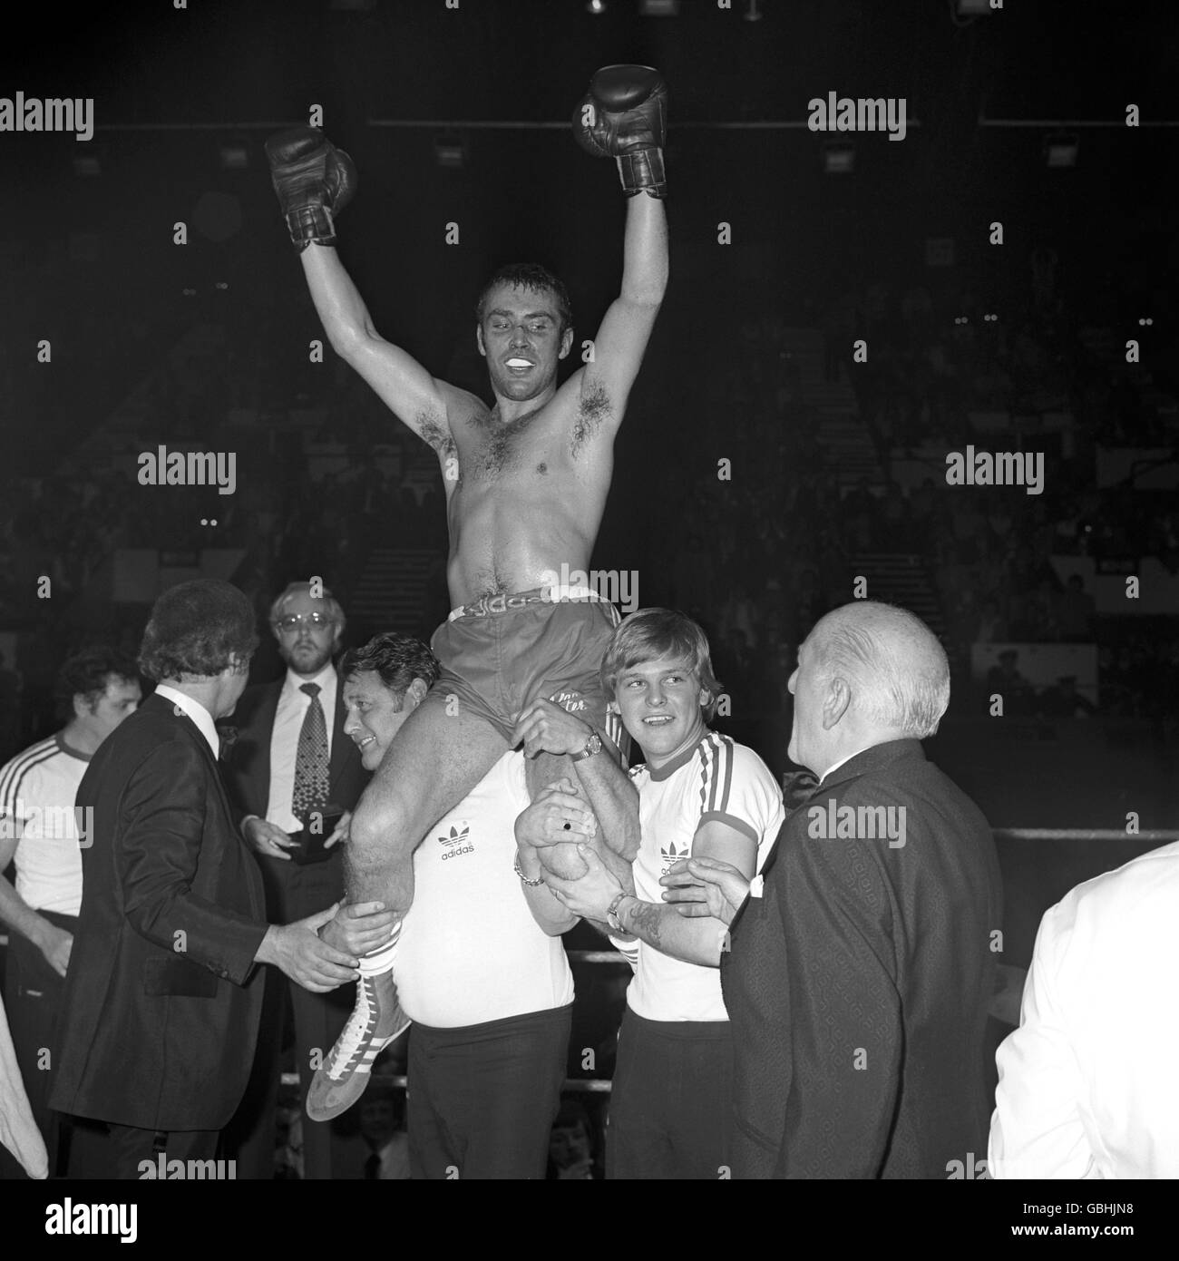
[[[762,870],[786,812],[778,782],[753,749],[707,731],[695,748],[657,770],[634,767],[630,778],[643,828],[634,893],[643,902],[662,904],[659,878],[692,852],[697,828],[714,818],[757,844],[757,870]],[[636,1015],[646,1020],[729,1019],[717,968],[685,963],[643,941],[615,944],[634,965],[627,1002]]]

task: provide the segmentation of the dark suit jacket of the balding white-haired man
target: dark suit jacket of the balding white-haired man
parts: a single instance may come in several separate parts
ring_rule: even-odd
[[[839,835],[846,806],[866,807],[861,839]],[[979,807],[917,740],[876,745],[787,817],[763,881],[721,958],[734,1177],[944,1179],[981,1161],[1001,886]]]

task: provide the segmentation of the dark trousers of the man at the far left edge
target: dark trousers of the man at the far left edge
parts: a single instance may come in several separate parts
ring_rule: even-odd
[[[69,933],[77,931],[76,915],[59,915],[52,910],[39,910],[38,914],[55,928],[64,928]],[[16,1064],[29,1096],[33,1120],[45,1140],[50,1178],[58,1173],[62,1121],[61,1115],[49,1108],[50,1055],[57,1045],[57,1018],[64,987],[66,979],[53,971],[37,946],[20,933],[9,936],[4,1010],[8,1013]]]

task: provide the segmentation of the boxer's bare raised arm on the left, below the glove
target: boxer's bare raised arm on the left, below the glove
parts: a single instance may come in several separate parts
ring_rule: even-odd
[[[311,301],[332,349],[354,368],[398,420],[429,443],[445,468],[455,455],[448,404],[456,393],[406,351],[386,342],[334,246],[309,245],[299,256]]]

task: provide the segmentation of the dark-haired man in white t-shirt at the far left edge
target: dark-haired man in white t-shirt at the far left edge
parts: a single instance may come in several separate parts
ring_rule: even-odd
[[[47,1052],[82,905],[81,847],[91,841],[74,796],[91,755],[139,705],[139,671],[115,648],[84,648],[58,672],[57,695],[71,712],[66,726],[0,767],[0,923],[10,931],[4,1006],[50,1175],[58,1127],[45,1098]],[[4,876],[9,863],[15,886]]]

